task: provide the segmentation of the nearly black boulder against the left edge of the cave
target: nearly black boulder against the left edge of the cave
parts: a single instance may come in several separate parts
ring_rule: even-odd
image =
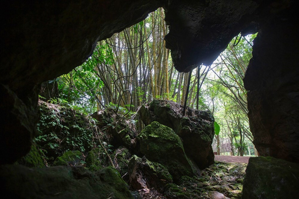
[[[26,90],[24,97],[0,83],[0,92],[0,112],[4,117],[0,123],[0,164],[13,163],[30,151],[32,138],[36,135],[38,87]]]

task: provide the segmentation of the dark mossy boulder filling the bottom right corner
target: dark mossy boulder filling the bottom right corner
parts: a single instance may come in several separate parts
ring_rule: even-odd
[[[249,158],[242,199],[297,198],[299,164],[273,157]]]

